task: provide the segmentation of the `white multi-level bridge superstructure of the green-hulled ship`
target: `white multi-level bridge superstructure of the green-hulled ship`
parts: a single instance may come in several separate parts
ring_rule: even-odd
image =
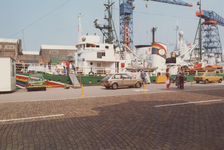
[[[115,53],[113,44],[100,43],[99,35],[80,36],[76,47],[76,66],[83,74],[118,71],[119,55]]]

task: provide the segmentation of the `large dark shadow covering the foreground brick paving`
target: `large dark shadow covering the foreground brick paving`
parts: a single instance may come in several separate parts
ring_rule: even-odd
[[[164,100],[166,94],[157,101],[147,96],[80,112],[98,112],[93,116],[2,124],[0,149],[224,149],[223,103],[157,108],[177,101]],[[80,106],[61,105],[71,110]]]

